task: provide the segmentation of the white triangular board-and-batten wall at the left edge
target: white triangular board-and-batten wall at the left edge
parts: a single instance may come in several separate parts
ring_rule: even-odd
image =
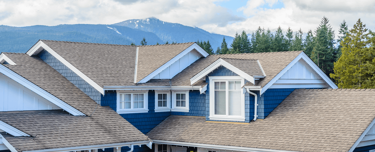
[[[0,111],[61,109],[1,73],[0,94]]]

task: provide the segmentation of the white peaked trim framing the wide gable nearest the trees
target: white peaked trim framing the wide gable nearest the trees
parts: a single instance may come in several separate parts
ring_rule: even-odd
[[[294,64],[296,64],[300,59],[303,59],[307,65],[309,65],[312,69],[314,69],[315,72],[317,72],[317,74],[323,78],[324,81],[326,81],[326,83],[332,87],[332,89],[337,89],[338,87],[336,86],[335,83],[333,83],[333,81],[326,75],[324,74],[324,72],[314,63],[314,61],[312,61],[304,52],[301,52],[296,58],[293,59],[292,62],[290,62],[284,69],[282,69],[274,78],[272,78],[272,80],[267,83],[260,94],[263,94],[267,89],[269,89],[272,84],[274,84],[277,80],[279,80],[279,78],[285,74],[285,72],[287,72]]]

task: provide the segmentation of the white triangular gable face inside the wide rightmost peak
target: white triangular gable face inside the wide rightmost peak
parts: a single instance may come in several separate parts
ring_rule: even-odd
[[[269,89],[328,88],[329,85],[303,59],[288,69]]]

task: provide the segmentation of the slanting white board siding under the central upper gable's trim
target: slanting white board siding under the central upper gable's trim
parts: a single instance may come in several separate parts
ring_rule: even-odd
[[[192,50],[186,55],[182,56],[176,62],[172,63],[172,65],[165,68],[162,72],[157,74],[152,79],[171,79],[201,57],[202,56],[199,55],[195,50]]]

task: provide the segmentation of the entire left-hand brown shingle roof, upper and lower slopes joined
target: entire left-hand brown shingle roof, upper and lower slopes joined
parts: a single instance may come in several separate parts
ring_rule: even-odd
[[[37,135],[33,139],[6,135],[12,146],[20,148],[18,151],[148,140],[113,109],[97,105],[42,59],[24,53],[5,55],[17,65],[4,66],[84,114],[91,115],[79,117],[61,110],[0,112],[1,121],[32,136]]]

